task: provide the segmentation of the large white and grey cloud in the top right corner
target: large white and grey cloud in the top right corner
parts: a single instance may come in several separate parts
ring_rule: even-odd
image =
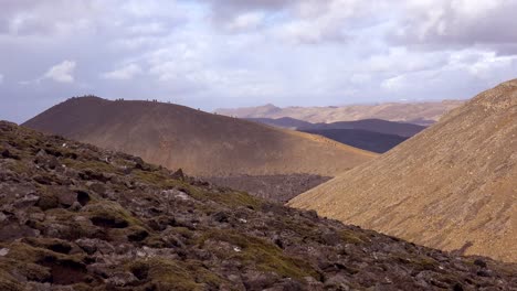
[[[433,50],[517,43],[516,1],[405,0],[392,41]]]

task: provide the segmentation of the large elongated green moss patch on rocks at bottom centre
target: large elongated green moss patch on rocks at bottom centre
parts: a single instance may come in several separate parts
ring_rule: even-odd
[[[310,276],[318,278],[317,271],[297,258],[285,256],[276,245],[261,238],[241,235],[234,230],[212,229],[204,234],[198,242],[203,245],[208,239],[226,241],[240,248],[230,258],[253,266],[261,271],[275,272],[284,278],[302,279]],[[229,254],[219,254],[228,259]]]

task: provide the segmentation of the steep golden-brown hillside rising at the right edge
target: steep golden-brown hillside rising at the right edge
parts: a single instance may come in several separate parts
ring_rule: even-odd
[[[517,261],[517,80],[289,202],[416,244]]]

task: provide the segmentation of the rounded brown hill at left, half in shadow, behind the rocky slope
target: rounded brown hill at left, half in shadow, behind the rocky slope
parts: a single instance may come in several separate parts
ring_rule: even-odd
[[[154,101],[72,98],[23,126],[203,176],[335,176],[376,157],[308,133]]]

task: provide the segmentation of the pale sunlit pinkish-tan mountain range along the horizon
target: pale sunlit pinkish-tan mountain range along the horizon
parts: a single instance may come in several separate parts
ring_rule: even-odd
[[[240,118],[291,117],[313,123],[331,123],[360,119],[383,119],[429,126],[430,123],[437,121],[443,114],[462,104],[464,104],[463,100],[286,108],[266,105],[235,109],[217,109],[215,111],[221,115]]]

